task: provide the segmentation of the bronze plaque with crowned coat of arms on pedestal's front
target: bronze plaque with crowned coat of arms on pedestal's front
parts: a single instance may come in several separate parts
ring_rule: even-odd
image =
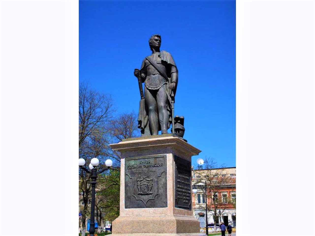
[[[125,208],[167,207],[166,155],[126,158]]]

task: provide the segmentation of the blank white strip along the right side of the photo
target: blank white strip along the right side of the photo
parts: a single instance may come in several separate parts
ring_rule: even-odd
[[[236,16],[237,233],[314,235],[314,2]]]

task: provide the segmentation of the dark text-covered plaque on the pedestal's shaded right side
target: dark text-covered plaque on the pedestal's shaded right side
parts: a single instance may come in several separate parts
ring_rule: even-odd
[[[191,162],[175,156],[175,166],[175,207],[191,210]]]

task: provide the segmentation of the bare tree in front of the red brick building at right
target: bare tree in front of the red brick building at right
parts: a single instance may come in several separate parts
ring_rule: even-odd
[[[223,174],[224,167],[225,166],[220,166],[220,168],[218,168],[217,163],[213,158],[206,158],[203,168],[201,168],[201,166],[197,166],[195,170],[195,176],[196,179],[198,179],[196,183],[206,183],[206,194],[207,199],[209,199],[207,211],[211,212],[214,217],[215,231],[216,223],[219,222],[219,217],[221,217],[224,211],[232,205],[231,198],[224,198],[222,200],[221,196],[223,188],[235,183],[235,179]],[[203,204],[196,203],[196,205],[198,205],[198,208],[205,210],[205,206]]]

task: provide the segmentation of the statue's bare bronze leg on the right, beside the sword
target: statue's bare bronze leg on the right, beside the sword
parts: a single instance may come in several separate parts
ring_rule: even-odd
[[[163,86],[167,86],[164,84]],[[167,125],[169,122],[169,114],[167,113],[167,95],[165,88],[161,87],[157,91],[157,110],[158,110],[158,120],[161,126],[161,132],[167,133]]]

